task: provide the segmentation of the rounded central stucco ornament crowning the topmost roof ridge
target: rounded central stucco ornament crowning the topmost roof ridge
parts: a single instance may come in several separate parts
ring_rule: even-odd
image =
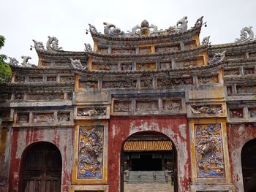
[[[154,34],[157,32],[157,26],[154,24],[151,24],[149,26],[148,20],[143,20],[139,25],[132,28],[132,31],[128,31],[129,33],[138,34],[138,36],[150,36],[151,34]]]

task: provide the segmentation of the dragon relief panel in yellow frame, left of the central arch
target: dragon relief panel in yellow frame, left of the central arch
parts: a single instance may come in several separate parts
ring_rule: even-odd
[[[78,179],[102,179],[104,128],[80,126],[78,133]]]

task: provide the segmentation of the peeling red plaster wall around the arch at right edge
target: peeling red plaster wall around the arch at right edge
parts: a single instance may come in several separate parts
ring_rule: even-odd
[[[244,192],[241,150],[246,142],[256,138],[256,124],[228,124],[227,138],[233,184],[236,187],[236,192]]]

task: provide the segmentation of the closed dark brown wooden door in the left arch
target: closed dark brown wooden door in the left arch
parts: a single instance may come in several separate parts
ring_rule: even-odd
[[[61,191],[61,153],[50,142],[37,142],[29,146],[21,160],[20,191]]]

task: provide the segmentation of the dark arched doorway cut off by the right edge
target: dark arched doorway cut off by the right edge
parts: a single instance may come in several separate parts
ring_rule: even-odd
[[[256,191],[256,139],[246,142],[241,151],[244,192]]]

